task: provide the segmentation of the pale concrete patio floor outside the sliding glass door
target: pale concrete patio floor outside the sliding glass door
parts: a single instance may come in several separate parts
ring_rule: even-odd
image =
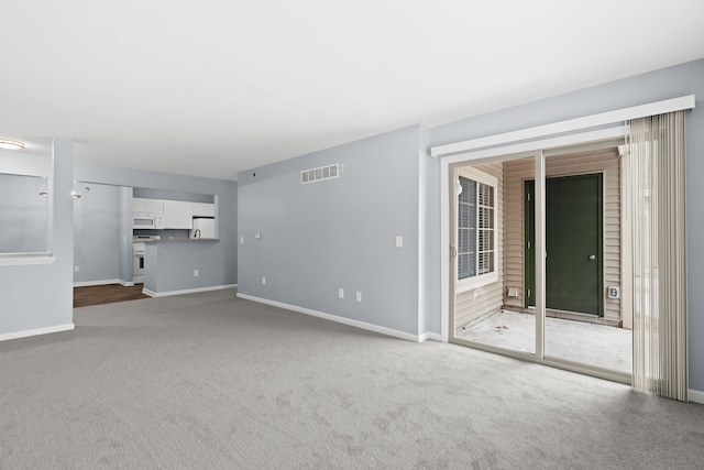
[[[536,316],[499,310],[469,326],[461,339],[535,352]],[[561,318],[546,318],[546,356],[631,373],[631,330]]]

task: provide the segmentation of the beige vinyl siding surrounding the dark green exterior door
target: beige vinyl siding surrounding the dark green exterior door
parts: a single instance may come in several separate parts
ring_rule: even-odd
[[[534,160],[505,163],[506,201],[506,291],[518,288],[517,297],[505,298],[505,305],[525,307],[524,285],[524,182],[534,179]],[[546,159],[546,176],[570,176],[602,173],[604,182],[604,318],[620,321],[620,300],[606,298],[606,286],[620,285],[620,165],[616,149],[604,149]]]

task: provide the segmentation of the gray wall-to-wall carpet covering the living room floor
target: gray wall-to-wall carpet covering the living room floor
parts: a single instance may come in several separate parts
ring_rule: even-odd
[[[0,468],[702,468],[704,406],[215,292],[0,343]]]

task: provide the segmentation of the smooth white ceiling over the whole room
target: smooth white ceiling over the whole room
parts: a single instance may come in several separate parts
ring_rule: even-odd
[[[12,0],[0,138],[235,179],[704,57],[704,1]]]

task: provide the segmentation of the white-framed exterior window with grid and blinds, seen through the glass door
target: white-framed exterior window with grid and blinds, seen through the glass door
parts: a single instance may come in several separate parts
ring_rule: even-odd
[[[459,175],[457,273],[468,288],[496,282],[496,178],[475,170]]]

